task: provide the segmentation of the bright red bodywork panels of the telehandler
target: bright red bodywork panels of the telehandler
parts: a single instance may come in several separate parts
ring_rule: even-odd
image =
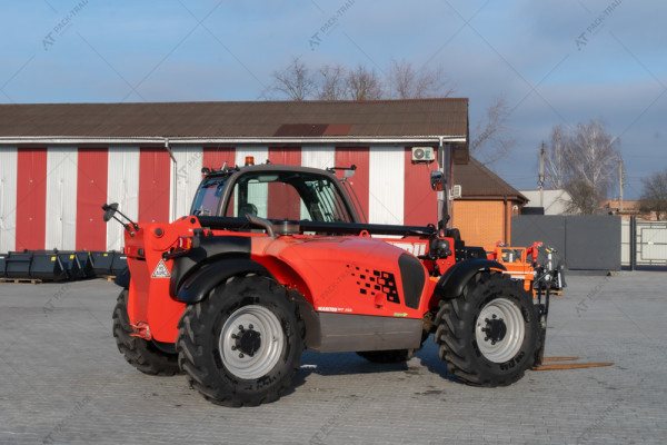
[[[185,217],[172,224],[141,225],[133,235],[126,233],[125,253],[132,276],[128,315],[137,335],[176,342],[177,324],[186,305],[169,296],[173,260],[163,260],[162,254],[176,248],[179,237],[190,237],[200,228],[196,217]],[[454,256],[420,259],[425,285],[415,308],[406,305],[398,259],[405,254],[425,255],[428,238],[374,238],[366,233],[276,238],[228,230],[207,230],[207,234],[250,237],[250,259],[265,266],[288,289],[297,289],[318,313],[421,319],[437,305],[434,288],[438,276],[455,263]],[[452,245],[454,240],[449,243]]]

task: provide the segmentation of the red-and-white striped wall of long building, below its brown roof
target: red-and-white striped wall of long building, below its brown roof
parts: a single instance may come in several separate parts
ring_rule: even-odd
[[[429,174],[437,162],[415,164],[410,147],[110,146],[0,147],[0,251],[111,250],[122,228],[104,224],[101,205],[119,202],[140,221],[187,215],[201,168],[256,164],[327,168],[356,165],[350,179],[375,224],[426,225],[437,220]],[[269,191],[270,192],[270,191]]]

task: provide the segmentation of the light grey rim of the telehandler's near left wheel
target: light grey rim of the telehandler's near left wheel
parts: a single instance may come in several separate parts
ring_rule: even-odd
[[[259,378],[280,359],[285,334],[276,315],[265,306],[237,309],[220,332],[220,357],[225,367],[239,378]]]

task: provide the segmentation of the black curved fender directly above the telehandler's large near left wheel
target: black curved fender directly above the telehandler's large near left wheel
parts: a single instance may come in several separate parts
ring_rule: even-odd
[[[216,286],[220,283],[225,283],[227,278],[245,274],[257,274],[273,278],[266,267],[251,259],[221,259],[201,267],[186,278],[176,294],[176,299],[186,304],[199,303],[203,300]]]

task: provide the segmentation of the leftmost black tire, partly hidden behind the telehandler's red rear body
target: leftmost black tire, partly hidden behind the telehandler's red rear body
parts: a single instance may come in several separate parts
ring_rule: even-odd
[[[126,360],[143,374],[172,376],[180,373],[178,355],[160,350],[152,342],[132,337],[128,317],[128,290],[118,296],[113,309],[113,337]]]

